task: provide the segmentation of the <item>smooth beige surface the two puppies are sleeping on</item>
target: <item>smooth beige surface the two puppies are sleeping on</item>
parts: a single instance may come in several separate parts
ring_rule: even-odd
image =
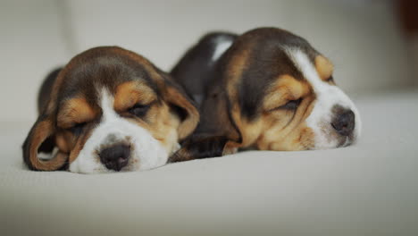
[[[3,123],[2,235],[417,235],[418,93],[357,98],[354,147],[246,152],[144,173],[22,169]]]

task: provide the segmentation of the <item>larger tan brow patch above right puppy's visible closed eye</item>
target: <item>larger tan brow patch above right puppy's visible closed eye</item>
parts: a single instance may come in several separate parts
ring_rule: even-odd
[[[284,105],[288,100],[295,100],[305,96],[309,92],[309,86],[288,74],[281,75],[267,90],[263,101],[264,111],[270,111]]]

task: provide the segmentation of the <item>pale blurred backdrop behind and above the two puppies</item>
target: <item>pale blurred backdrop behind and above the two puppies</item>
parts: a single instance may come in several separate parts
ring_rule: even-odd
[[[33,122],[46,73],[89,47],[123,46],[170,70],[208,30],[284,28],[330,57],[348,93],[410,88],[418,40],[397,13],[384,0],[0,0],[0,121]]]

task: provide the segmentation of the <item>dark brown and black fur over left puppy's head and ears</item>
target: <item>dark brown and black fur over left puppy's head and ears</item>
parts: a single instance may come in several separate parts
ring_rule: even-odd
[[[100,46],[76,55],[70,63],[51,72],[44,80],[38,95],[38,120],[22,146],[24,163],[30,170],[37,171],[65,168],[69,158],[77,155],[72,150],[59,148],[58,154],[50,160],[39,160],[38,153],[51,153],[57,147],[57,134],[65,133],[74,140],[87,139],[89,127],[94,127],[101,119],[100,108],[96,107],[97,88],[104,87],[113,93],[122,83],[133,80],[146,83],[155,92],[158,97],[155,106],[164,101],[178,114],[181,123],[187,122],[185,125],[188,127],[182,127],[183,131],[180,131],[180,139],[186,138],[195,129],[199,119],[196,106],[168,73],[144,57],[121,47]],[[88,124],[75,123],[71,127],[59,127],[57,114],[61,106],[65,101],[80,95],[92,107],[96,116]],[[130,114],[121,115],[135,120]]]

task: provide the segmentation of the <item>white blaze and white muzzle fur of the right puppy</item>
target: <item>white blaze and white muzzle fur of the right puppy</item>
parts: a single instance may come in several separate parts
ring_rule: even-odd
[[[351,109],[355,114],[355,131],[354,139],[357,139],[361,131],[360,115],[357,108],[349,97],[337,86],[321,80],[315,69],[314,63],[308,56],[298,48],[286,48],[286,53],[295,63],[297,69],[302,72],[312,88],[316,96],[314,109],[306,119],[306,124],[315,134],[315,149],[337,147],[338,140],[330,139],[330,133],[333,131],[330,125],[332,121],[332,107],[340,105],[343,108]]]

